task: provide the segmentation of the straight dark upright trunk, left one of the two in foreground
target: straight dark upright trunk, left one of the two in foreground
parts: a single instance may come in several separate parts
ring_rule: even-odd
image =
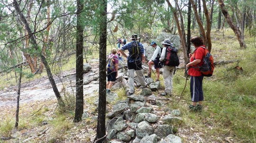
[[[76,23],[76,93],[74,122],[82,120],[83,113],[83,0],[77,0]]]

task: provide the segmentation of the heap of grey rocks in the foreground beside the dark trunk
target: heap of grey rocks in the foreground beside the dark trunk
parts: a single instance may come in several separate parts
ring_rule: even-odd
[[[148,95],[148,90],[143,89],[141,94]],[[155,95],[148,98],[156,102],[159,99]],[[173,123],[182,122],[180,115],[179,110],[169,109],[163,118],[159,117],[144,95],[128,96],[128,100],[118,101],[107,114],[107,140],[109,143],[182,143],[173,132]]]

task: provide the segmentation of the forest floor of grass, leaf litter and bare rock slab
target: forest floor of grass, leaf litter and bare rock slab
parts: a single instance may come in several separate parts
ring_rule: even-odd
[[[174,75],[174,96],[166,107],[182,112],[183,124],[177,125],[177,136],[183,143],[256,143],[256,48],[246,37],[247,49],[240,49],[235,35],[227,31],[212,32],[212,52],[215,61],[238,59],[239,62],[215,67],[214,76],[204,78],[205,101],[201,113],[190,112],[189,82],[179,101],[185,80],[183,70]],[[181,65],[182,66],[182,65]],[[242,71],[236,67],[242,67]],[[73,68],[74,69],[74,68]],[[84,111],[89,118],[73,123],[75,88],[74,70],[65,71],[56,80],[67,106],[60,108],[46,76],[22,83],[18,130],[14,129],[17,86],[6,86],[0,91],[0,143],[92,143],[96,135],[97,111],[94,101],[98,97],[97,64],[85,80]],[[70,76],[66,76],[70,75]],[[155,78],[155,75],[152,75]],[[55,77],[58,79],[58,77]],[[160,77],[161,85],[163,76]],[[163,86],[161,88],[163,90]],[[122,90],[114,91],[125,99]],[[155,92],[158,95],[158,92]],[[179,101],[179,102],[178,102]],[[108,105],[107,109],[111,109]],[[161,114],[163,108],[159,108]]]

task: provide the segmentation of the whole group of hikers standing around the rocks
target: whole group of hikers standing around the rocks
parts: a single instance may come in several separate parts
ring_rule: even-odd
[[[125,38],[124,38],[125,39]],[[129,90],[126,92],[127,96],[134,94],[134,73],[136,72],[137,79],[140,83],[140,88],[148,87],[142,71],[142,64],[145,63],[145,49],[142,43],[137,40],[139,37],[137,34],[133,34],[130,38],[131,42],[127,44],[122,44],[122,40],[118,38],[118,50],[112,49],[112,53],[109,55],[110,62],[109,67],[112,66],[112,70],[107,71],[107,93],[110,93],[112,84],[116,81],[116,77],[118,76],[118,56],[116,55],[119,52],[125,58],[127,58],[128,65],[128,86]],[[120,42],[121,41],[121,42]],[[203,91],[202,91],[202,80],[203,75],[201,74],[199,67],[202,65],[204,58],[204,49],[203,41],[201,37],[193,37],[190,40],[195,47],[194,53],[189,54],[190,62],[186,64],[188,68],[188,74],[191,76],[190,83],[190,92],[191,92],[191,100],[192,105],[189,106],[191,110],[201,111],[202,109],[202,101]],[[177,49],[173,47],[173,43],[169,39],[165,39],[161,42],[163,48],[157,45],[155,41],[152,41],[150,45],[155,49],[151,59],[147,62],[149,66],[148,73],[146,77],[151,77],[152,66],[154,65],[156,70],[156,80],[159,81],[160,76],[160,68],[163,68],[163,78],[165,83],[165,92],[160,93],[162,96],[172,96],[173,93],[173,78],[175,73],[175,67],[179,65],[179,58],[177,55]],[[128,55],[124,52],[128,50]],[[112,65],[111,65],[112,62]],[[110,66],[111,65],[111,66]],[[109,69],[109,68],[108,68]]]

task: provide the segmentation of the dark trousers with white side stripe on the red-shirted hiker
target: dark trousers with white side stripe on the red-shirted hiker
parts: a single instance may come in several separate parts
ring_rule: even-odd
[[[191,76],[190,81],[190,93],[191,101],[198,102],[203,101],[203,91],[202,91],[202,80],[203,76]]]

